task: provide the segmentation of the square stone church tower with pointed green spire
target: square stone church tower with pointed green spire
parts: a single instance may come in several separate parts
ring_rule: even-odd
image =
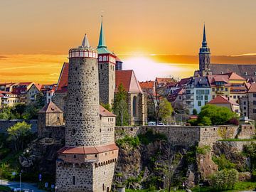
[[[101,22],[100,39],[97,51],[99,54],[100,102],[112,105],[114,102],[116,56],[114,53],[107,50],[103,22]]]

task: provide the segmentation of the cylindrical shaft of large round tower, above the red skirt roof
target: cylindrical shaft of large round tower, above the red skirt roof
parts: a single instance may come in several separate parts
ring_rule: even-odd
[[[69,50],[65,146],[100,144],[97,50],[83,42]]]

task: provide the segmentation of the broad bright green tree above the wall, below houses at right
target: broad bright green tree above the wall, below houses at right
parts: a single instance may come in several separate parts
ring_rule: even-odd
[[[226,124],[228,120],[236,117],[228,107],[218,107],[216,105],[205,105],[198,114],[198,124],[209,122],[203,117],[208,117],[212,124]]]

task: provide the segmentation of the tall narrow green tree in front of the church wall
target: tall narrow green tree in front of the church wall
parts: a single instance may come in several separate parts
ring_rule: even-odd
[[[117,115],[118,126],[125,126],[129,124],[127,92],[125,91],[122,83],[118,86],[118,92],[114,95],[113,112]]]

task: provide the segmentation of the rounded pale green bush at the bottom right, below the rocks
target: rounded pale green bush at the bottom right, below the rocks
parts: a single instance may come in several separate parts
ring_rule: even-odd
[[[238,182],[238,171],[235,169],[224,169],[210,176],[210,186],[217,191],[233,189]]]

